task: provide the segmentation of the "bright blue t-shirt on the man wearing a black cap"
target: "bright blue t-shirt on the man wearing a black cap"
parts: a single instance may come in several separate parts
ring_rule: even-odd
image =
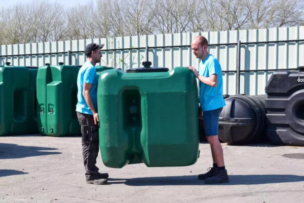
[[[87,61],[83,66],[80,68],[78,77],[77,77],[77,87],[78,87],[78,103],[76,105],[76,111],[84,114],[91,114],[93,115],[92,111],[90,110],[87,102],[83,96],[83,85],[84,83],[91,83],[92,87],[90,89],[90,95],[93,101],[93,106],[95,111],[97,112],[97,84],[98,78],[96,74],[96,69],[92,65],[91,62]]]

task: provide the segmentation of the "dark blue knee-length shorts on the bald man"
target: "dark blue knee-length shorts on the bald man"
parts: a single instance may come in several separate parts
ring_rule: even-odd
[[[205,126],[205,135],[206,136],[217,136],[218,133],[218,119],[219,114],[222,111],[222,107],[215,110],[204,111],[203,119]]]

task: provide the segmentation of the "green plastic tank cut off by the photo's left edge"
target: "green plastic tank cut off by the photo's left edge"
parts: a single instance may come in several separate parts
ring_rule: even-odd
[[[38,67],[0,66],[0,136],[37,134],[36,75]]]

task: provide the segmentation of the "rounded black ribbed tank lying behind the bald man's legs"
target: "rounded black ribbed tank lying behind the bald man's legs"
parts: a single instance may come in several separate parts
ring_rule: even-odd
[[[264,141],[266,129],[264,95],[233,95],[225,99],[219,115],[218,138],[229,145]]]

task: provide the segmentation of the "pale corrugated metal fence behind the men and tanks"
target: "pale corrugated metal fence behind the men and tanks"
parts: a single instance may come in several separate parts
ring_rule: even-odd
[[[169,69],[186,65],[198,67],[200,61],[192,53],[191,42],[199,35],[208,39],[209,52],[222,66],[224,94],[236,93],[238,41],[240,93],[264,94],[274,70],[296,69],[304,65],[304,26],[2,45],[0,65],[8,61],[12,65],[41,66],[59,62],[81,65],[86,60],[83,53],[86,45],[95,42],[105,44],[98,65],[123,70],[142,66],[147,45],[152,66]]]

